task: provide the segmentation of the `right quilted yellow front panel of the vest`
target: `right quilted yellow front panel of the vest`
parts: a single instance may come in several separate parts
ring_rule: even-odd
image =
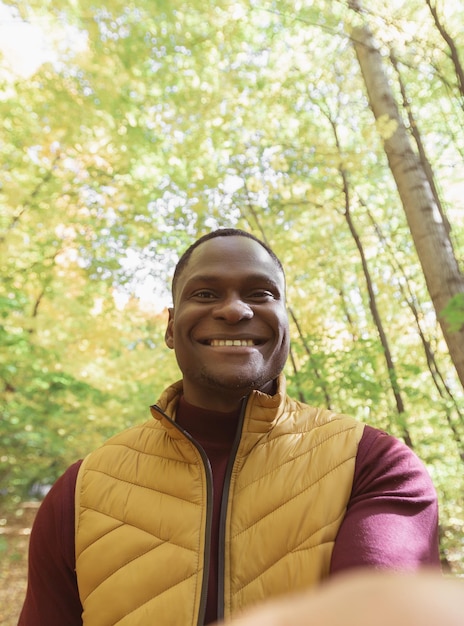
[[[245,420],[231,478],[225,617],[327,577],[364,429],[350,417],[302,409],[287,398],[285,419],[256,443],[262,426],[259,411],[254,415]]]

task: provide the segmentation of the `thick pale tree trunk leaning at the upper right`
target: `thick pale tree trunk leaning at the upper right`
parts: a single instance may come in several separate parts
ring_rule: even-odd
[[[359,2],[350,1],[349,5],[353,11],[362,13]],[[351,37],[374,117],[380,127],[390,128],[390,132],[383,133],[385,153],[406,213],[430,298],[451,359],[464,387],[464,324],[457,332],[452,332],[442,314],[451,298],[464,293],[464,275],[459,270],[448,229],[437,207],[426,173],[412,148],[370,28],[366,24],[357,26]]]

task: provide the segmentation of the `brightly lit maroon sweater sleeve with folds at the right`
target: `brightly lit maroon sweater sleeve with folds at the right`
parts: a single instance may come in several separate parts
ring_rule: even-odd
[[[424,465],[404,443],[366,426],[331,573],[439,563],[437,496]]]

